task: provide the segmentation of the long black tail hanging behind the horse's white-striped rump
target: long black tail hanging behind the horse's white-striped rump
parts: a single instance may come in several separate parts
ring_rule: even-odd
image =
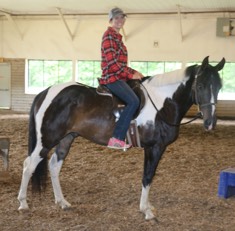
[[[31,106],[30,115],[29,115],[29,138],[28,138],[28,155],[30,156],[37,145],[37,128],[36,128],[36,108],[38,103],[46,96],[47,90],[41,92],[37,95]],[[38,155],[43,157],[43,159],[36,166],[36,169],[32,175],[32,191],[41,192],[46,189],[46,180],[47,180],[47,149],[42,149]]]

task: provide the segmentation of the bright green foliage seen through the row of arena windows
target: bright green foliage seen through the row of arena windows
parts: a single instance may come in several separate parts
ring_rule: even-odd
[[[188,65],[196,64],[190,62]],[[211,63],[216,65],[217,62]],[[44,89],[54,84],[72,80],[73,67],[70,60],[29,60],[28,61],[28,88]],[[151,76],[180,69],[181,62],[131,62],[130,66],[145,76]],[[235,95],[235,63],[227,62],[220,71],[223,80],[222,93]],[[77,78],[80,83],[96,87],[97,78],[101,76],[100,61],[78,61]]]

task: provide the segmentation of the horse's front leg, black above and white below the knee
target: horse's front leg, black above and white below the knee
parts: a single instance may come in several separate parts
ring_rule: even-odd
[[[158,145],[145,148],[144,157],[144,175],[142,180],[142,193],[140,198],[140,211],[145,214],[145,219],[155,218],[155,208],[149,202],[150,186],[155,175],[156,168],[161,159],[165,148],[159,148]]]

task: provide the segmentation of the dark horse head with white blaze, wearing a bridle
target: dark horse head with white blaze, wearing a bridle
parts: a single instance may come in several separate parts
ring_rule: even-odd
[[[195,103],[203,116],[205,129],[212,130],[216,125],[216,103],[220,88],[222,87],[218,71],[225,64],[223,58],[216,66],[211,66],[208,56],[200,66],[196,67],[196,76],[193,83]]]

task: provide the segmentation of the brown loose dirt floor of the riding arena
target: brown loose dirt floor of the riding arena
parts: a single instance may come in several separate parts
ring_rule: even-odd
[[[72,209],[28,190],[28,212],[18,212],[17,194],[27,155],[28,118],[0,115],[0,137],[9,137],[10,166],[0,160],[2,231],[234,231],[235,197],[218,197],[221,170],[235,167],[235,123],[219,121],[207,133],[201,123],[181,127],[166,150],[151,188],[157,219],[139,212],[143,151],[110,150],[77,138],[65,161],[61,185]]]

